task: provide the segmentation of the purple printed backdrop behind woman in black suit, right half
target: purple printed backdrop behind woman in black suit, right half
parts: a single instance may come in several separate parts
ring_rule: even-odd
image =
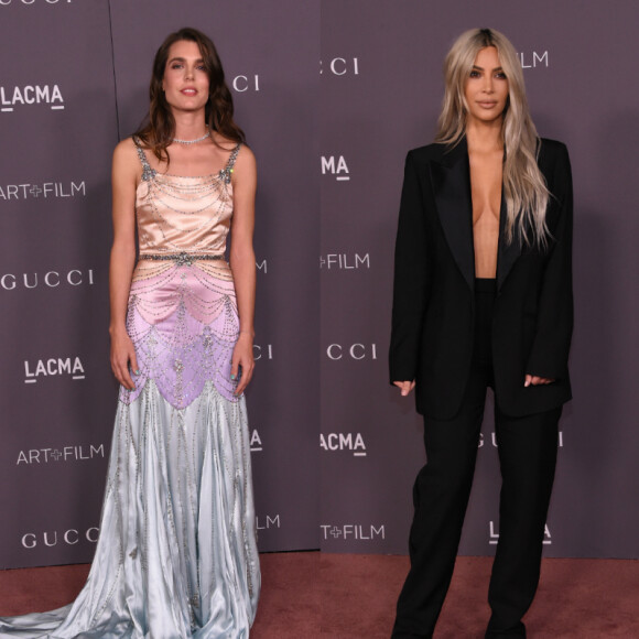
[[[442,64],[464,30],[520,52],[541,136],[571,151],[575,189],[574,400],[564,410],[548,556],[639,554],[639,237],[635,76],[639,6],[322,2],[323,548],[405,552],[424,463],[412,401],[388,386],[392,251],[409,149],[432,141]],[[490,408],[463,554],[491,554],[499,467]]]

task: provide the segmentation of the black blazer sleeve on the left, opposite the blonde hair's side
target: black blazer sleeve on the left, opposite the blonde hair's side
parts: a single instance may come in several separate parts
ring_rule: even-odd
[[[426,300],[424,198],[413,153],[407,155],[394,251],[390,382],[416,377]]]

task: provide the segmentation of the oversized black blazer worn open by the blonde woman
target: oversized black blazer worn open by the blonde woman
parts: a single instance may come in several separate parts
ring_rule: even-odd
[[[571,399],[573,195],[565,145],[542,140],[538,163],[551,192],[548,249],[506,242],[501,198],[492,365],[498,405],[512,416]],[[468,381],[474,282],[466,139],[452,150],[414,149],[405,162],[396,243],[390,379],[414,379],[418,411],[434,419],[455,415]],[[556,381],[524,388],[527,373]]]

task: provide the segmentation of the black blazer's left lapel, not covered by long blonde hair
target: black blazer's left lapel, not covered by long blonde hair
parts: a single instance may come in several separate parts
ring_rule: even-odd
[[[441,163],[431,164],[437,215],[457,267],[470,286],[475,285],[473,201],[466,138],[444,152]]]

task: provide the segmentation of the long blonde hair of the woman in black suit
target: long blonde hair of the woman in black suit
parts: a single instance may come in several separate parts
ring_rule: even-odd
[[[464,137],[468,106],[466,80],[481,48],[497,50],[508,78],[508,100],[503,111],[503,195],[507,205],[506,240],[518,236],[523,243],[545,247],[549,230],[545,210],[550,193],[537,164],[539,136],[532,123],[523,72],[510,41],[491,29],[472,29],[455,41],[444,62],[444,100],[437,122],[437,142],[455,145]],[[532,237],[530,237],[532,236]]]

